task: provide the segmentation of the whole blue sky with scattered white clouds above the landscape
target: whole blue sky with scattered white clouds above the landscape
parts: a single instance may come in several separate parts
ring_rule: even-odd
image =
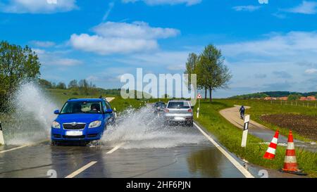
[[[216,97],[317,91],[317,1],[0,0],[0,39],[30,45],[53,82],[120,87],[120,75],[182,73],[189,53],[223,51]]]

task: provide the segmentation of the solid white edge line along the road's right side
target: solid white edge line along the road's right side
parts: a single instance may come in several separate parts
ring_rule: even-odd
[[[225,155],[226,158],[228,158],[228,160],[230,160],[230,162],[232,162],[233,165],[235,165],[235,167],[237,167],[237,169],[244,175],[244,177],[247,178],[254,178],[254,176],[247,170],[245,169],[242,165],[240,165],[239,162],[237,162],[237,160],[235,160],[235,158],[233,158],[227,151],[225,151],[225,149],[223,149],[221,146],[219,146],[219,144],[213,140],[208,134],[206,134],[196,123],[194,123],[194,126],[199,129],[199,131],[206,136],[206,138],[211,141],[211,143],[213,143],[214,146],[216,146],[216,148],[218,148],[218,150],[223,153],[223,155]]]

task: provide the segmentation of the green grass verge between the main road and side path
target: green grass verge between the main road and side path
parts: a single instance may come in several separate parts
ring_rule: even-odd
[[[242,129],[235,127],[225,120],[219,113],[224,108],[230,108],[232,104],[217,100],[213,103],[201,101],[199,119],[196,119],[201,126],[205,127],[211,134],[216,136],[230,152],[235,153],[239,158],[245,159],[255,165],[260,165],[270,169],[280,169],[283,166],[286,148],[278,146],[275,160],[263,158],[268,145],[256,136],[248,135],[247,147],[241,147]],[[317,177],[317,153],[299,150],[297,148],[297,162],[299,168],[304,169],[309,177]]]

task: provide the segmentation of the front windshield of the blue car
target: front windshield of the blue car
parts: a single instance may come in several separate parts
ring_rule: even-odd
[[[66,113],[101,113],[101,102],[68,101],[61,110],[61,114]]]

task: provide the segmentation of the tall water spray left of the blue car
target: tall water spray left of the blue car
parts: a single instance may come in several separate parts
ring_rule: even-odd
[[[25,82],[11,97],[13,113],[4,120],[8,145],[34,143],[49,138],[56,104],[35,82]]]

